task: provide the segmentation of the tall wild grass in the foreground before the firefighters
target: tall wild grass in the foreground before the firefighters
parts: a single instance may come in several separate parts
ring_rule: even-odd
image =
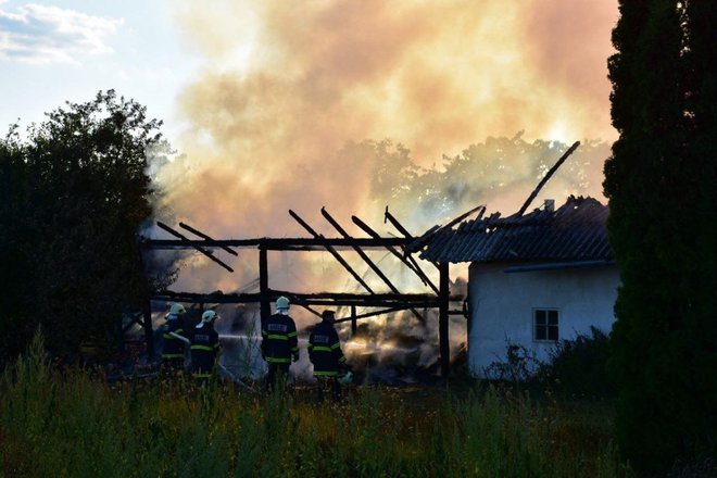
[[[217,381],[108,385],[58,372],[41,339],[0,380],[3,477],[614,477],[607,408],[489,388],[340,404]],[[313,394],[311,395],[313,397]],[[415,397],[414,397],[415,399]]]

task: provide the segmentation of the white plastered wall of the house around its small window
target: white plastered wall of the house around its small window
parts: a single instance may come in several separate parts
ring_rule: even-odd
[[[616,266],[503,272],[511,264],[470,264],[468,275],[468,363],[476,376],[506,361],[507,344],[519,344],[538,360],[549,358],[554,342],[533,340],[533,310],[558,310],[558,339],[608,332],[615,320],[619,274]],[[513,264],[514,265],[514,264]]]

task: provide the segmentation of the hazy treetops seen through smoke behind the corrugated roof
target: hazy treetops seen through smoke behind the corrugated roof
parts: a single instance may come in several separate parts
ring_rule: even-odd
[[[512,138],[489,137],[461,154],[443,156],[440,167],[418,166],[410,150],[390,140],[349,143],[339,154],[347,163],[370,165],[372,199],[379,211],[389,204],[405,226],[420,230],[481,203],[517,210],[566,149],[557,141],[528,142],[520,131]],[[607,142],[584,140],[546,189],[566,197],[599,190],[608,152]],[[520,202],[511,204],[515,201]]]

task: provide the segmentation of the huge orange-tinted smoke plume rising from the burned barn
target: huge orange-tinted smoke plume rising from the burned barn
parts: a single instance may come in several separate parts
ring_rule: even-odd
[[[326,205],[363,236],[350,215],[376,225],[389,204],[419,234],[480,203],[514,212],[558,146],[578,139],[590,139],[589,154],[556,177],[554,199],[601,194],[616,136],[606,59],[617,0],[175,5],[204,59],[178,98],[183,155],[158,172],[177,222],[221,238],[305,237],[292,209],[337,236],[319,215]],[[529,158],[541,139],[546,156]],[[511,155],[495,141],[513,144]],[[498,152],[481,155],[489,143]],[[312,257],[273,254],[272,287],[345,290],[332,259]],[[231,291],[255,279],[252,254],[231,265],[235,275],[197,256],[175,289]]]

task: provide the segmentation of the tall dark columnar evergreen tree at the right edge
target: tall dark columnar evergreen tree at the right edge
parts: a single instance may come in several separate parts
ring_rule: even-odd
[[[664,470],[717,450],[717,115],[705,0],[620,0],[605,164],[620,266],[611,369],[620,450]]]

